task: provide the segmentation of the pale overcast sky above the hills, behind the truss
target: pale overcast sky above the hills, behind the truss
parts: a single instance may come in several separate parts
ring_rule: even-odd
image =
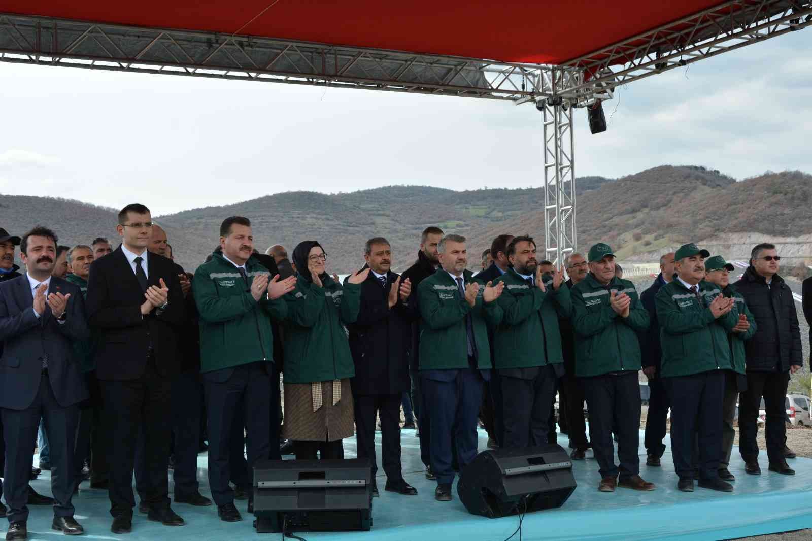
[[[812,172],[812,29],[619,89],[576,173]],[[541,114],[470,98],[0,63],[0,193],[153,214],[269,193],[542,184]],[[613,111],[614,114],[613,114]]]

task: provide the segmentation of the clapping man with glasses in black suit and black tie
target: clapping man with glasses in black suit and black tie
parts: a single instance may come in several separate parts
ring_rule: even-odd
[[[144,431],[149,520],[180,526],[170,507],[166,463],[171,435],[171,380],[179,372],[175,335],[184,323],[184,294],[175,263],[149,253],[149,209],[119,212],[122,244],[90,267],[87,306],[97,331],[97,377],[110,438],[110,514],[114,534],[132,530],[132,470]]]

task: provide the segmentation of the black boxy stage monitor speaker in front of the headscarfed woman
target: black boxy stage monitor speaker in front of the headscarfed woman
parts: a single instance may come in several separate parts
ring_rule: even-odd
[[[258,461],[253,470],[257,533],[369,531],[372,526],[368,458]]]

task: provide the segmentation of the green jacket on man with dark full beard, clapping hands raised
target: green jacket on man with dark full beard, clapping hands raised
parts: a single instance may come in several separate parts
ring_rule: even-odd
[[[497,302],[500,310],[494,330],[494,366],[497,369],[529,368],[564,362],[559,316],[572,314],[572,297],[566,283],[558,291],[531,287],[512,268],[494,285],[505,284]]]

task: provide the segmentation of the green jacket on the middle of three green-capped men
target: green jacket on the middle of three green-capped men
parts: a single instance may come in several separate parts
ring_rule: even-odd
[[[708,305],[719,295],[719,288],[705,280],[698,286],[699,297],[675,277],[654,297],[663,346],[663,378],[733,369],[728,333],[739,316],[731,310],[714,318]]]

